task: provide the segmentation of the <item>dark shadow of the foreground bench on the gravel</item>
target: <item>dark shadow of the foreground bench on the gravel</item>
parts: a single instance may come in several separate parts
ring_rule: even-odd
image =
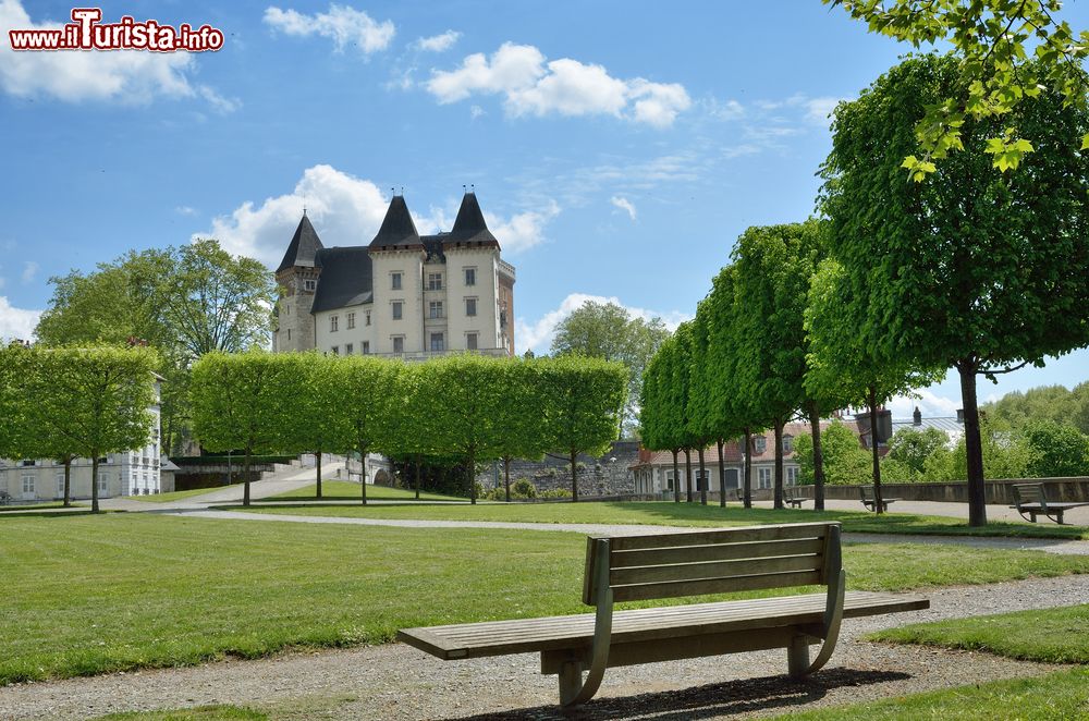
[[[824,698],[830,691],[835,688],[868,686],[904,681],[909,677],[906,673],[892,671],[832,669],[804,681],[794,681],[787,676],[766,676],[708,684],[681,691],[601,698],[571,710],[561,709],[559,706],[539,706],[512,709],[501,713],[460,717],[460,719],[462,721],[500,721],[501,719],[591,721],[597,719],[650,718],[657,721],[681,721],[682,719],[715,719],[769,709],[798,709]]]

